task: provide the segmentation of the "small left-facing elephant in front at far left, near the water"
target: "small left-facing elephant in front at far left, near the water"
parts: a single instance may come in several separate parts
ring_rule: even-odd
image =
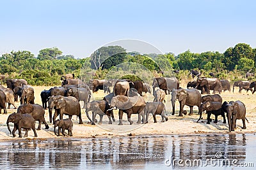
[[[13,122],[13,124],[14,124],[12,132],[11,132],[10,125],[9,125],[10,122]],[[35,128],[35,119],[28,113],[27,114],[12,113],[7,118],[6,124],[7,124],[9,132],[13,135],[13,137],[15,137],[15,132],[18,129],[19,130],[19,138],[22,138],[21,128],[26,129],[26,133],[25,133],[24,137],[28,137],[29,129],[32,129],[34,131],[35,137],[37,137],[36,128]]]

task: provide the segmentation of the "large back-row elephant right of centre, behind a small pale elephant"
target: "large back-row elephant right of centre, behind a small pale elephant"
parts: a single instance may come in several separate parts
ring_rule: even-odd
[[[170,91],[172,91],[173,89],[179,89],[179,80],[175,77],[154,78],[152,87],[153,87],[153,92],[155,91],[156,87],[159,87],[159,89],[164,90],[165,94],[167,94],[167,90],[170,94]]]

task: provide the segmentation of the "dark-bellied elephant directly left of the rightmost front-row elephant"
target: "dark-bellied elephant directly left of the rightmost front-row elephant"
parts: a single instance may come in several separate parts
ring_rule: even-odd
[[[223,124],[226,124],[225,112],[221,109],[221,102],[218,101],[205,101],[200,106],[200,117],[197,122],[202,118],[202,112],[206,110],[207,113],[207,122],[206,124],[210,124],[211,122],[211,114],[215,115],[214,124],[218,122],[218,115],[223,117]]]

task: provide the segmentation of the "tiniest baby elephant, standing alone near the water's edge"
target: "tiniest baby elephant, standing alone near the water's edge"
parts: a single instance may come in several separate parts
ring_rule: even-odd
[[[68,130],[68,136],[73,136],[72,135],[72,127],[73,127],[73,122],[70,120],[70,118],[66,119],[61,119],[61,120],[56,120],[54,122],[54,134],[56,135],[56,127],[58,126],[58,135],[60,136],[60,129],[62,129],[62,134],[65,136],[65,130]]]

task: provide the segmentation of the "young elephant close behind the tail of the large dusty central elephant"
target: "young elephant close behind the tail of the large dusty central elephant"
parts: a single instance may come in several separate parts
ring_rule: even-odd
[[[144,108],[144,114],[146,115],[146,124],[148,123],[148,115],[152,113],[154,117],[154,123],[156,123],[156,115],[161,115],[162,122],[164,122],[164,118],[167,121],[168,117],[165,115],[165,106],[161,101],[147,103]]]

